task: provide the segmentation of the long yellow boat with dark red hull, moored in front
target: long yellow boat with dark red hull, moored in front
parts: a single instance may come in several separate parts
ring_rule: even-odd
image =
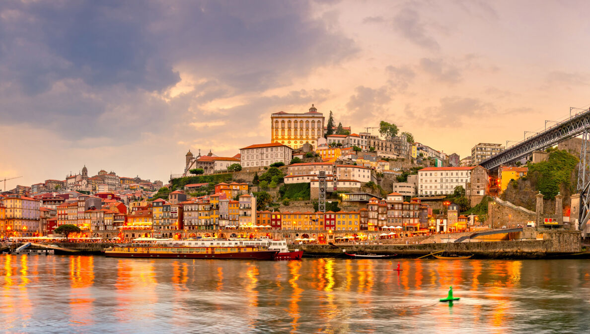
[[[240,246],[231,247],[208,246],[175,246],[154,244],[137,244],[130,246],[116,246],[104,251],[106,257],[137,257],[137,258],[206,258],[206,259],[235,259],[235,260],[274,260],[277,250],[268,247]]]

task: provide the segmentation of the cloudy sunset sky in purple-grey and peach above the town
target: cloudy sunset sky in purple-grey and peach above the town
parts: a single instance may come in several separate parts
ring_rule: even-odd
[[[587,1],[0,2],[0,178],[166,183],[313,103],[445,153],[588,108]],[[4,184],[0,183],[0,188]]]

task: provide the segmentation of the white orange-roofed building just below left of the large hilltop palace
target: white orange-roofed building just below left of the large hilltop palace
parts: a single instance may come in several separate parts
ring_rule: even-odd
[[[255,144],[240,149],[240,161],[242,168],[264,167],[271,163],[291,163],[293,149],[282,143]]]

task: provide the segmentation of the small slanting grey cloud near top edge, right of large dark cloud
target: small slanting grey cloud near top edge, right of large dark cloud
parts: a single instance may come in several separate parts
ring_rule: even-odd
[[[431,51],[440,49],[438,42],[428,35],[424,22],[421,21],[418,11],[405,6],[393,19],[394,28],[399,34],[420,47]]]

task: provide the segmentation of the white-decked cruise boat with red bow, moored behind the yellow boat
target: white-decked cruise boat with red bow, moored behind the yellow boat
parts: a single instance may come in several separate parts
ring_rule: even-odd
[[[235,247],[235,246],[254,246],[267,247],[268,250],[278,251],[274,257],[275,260],[301,260],[303,257],[302,250],[290,251],[287,247],[286,240],[270,240],[270,239],[211,239],[211,240],[158,240],[154,242],[156,245],[168,246],[183,246],[183,247]]]

